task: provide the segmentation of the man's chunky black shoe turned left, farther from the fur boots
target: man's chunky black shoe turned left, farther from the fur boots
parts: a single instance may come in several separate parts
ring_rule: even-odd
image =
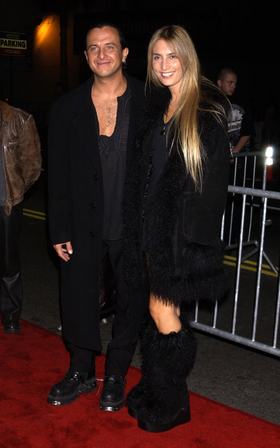
[[[47,402],[54,406],[69,405],[75,401],[81,393],[87,394],[97,389],[95,372],[88,374],[73,372],[68,369],[62,381],[56,383],[47,397]]]

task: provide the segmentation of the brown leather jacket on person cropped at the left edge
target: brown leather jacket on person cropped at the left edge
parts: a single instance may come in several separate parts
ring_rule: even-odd
[[[1,147],[7,190],[6,215],[38,179],[41,172],[40,140],[33,116],[0,101]]]

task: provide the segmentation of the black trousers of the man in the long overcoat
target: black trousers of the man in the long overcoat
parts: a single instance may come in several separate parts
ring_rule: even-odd
[[[108,375],[125,376],[132,361],[137,344],[137,336],[129,341],[130,315],[129,315],[129,288],[123,280],[123,255],[120,240],[103,240],[102,258],[108,254],[113,271],[116,290],[116,310],[112,329],[112,340],[106,352],[105,373]],[[69,349],[71,362],[70,369],[78,372],[90,372],[94,369],[94,350],[76,347],[66,343]]]

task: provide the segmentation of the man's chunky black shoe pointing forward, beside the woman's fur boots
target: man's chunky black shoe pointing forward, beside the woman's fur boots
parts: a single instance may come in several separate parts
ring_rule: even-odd
[[[122,376],[105,375],[99,409],[116,412],[124,405],[124,388],[127,380]]]

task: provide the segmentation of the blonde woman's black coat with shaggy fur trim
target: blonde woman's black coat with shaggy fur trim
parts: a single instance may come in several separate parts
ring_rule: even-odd
[[[208,92],[224,103],[219,92]],[[227,123],[209,112],[198,112],[200,139],[206,152],[202,192],[195,191],[174,147],[157,182],[155,194],[144,207],[151,172],[153,131],[170,101],[168,88],[152,90],[140,120],[127,172],[123,200],[123,255],[125,279],[138,289],[150,289],[165,303],[206,299],[215,301],[228,290],[222,264],[219,229],[229,177]],[[143,212],[147,222],[146,252],[142,251]]]

